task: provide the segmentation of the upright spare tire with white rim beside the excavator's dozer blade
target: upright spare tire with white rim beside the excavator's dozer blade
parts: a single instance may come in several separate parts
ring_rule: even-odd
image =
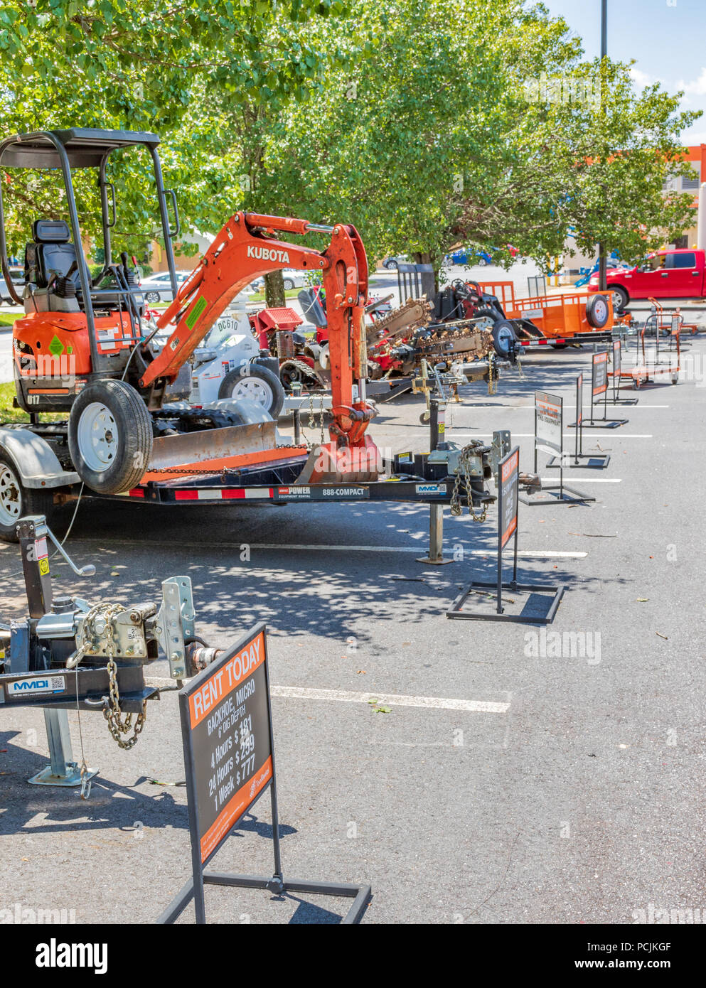
[[[89,384],[68,418],[74,469],[99,494],[121,494],[139,483],[152,453],[152,419],[124,380]]]

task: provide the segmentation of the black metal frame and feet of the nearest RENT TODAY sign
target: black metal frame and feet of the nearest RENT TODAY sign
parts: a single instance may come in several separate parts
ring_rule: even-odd
[[[236,682],[233,684],[232,680],[228,684],[230,689],[227,694],[221,695],[219,703],[213,707],[214,711],[221,711],[224,700],[226,696],[229,696],[233,690],[239,688],[243,691],[243,705],[246,711],[240,718],[238,723],[242,724],[245,717],[252,718],[253,713],[259,713],[260,716],[255,717],[255,723],[259,722],[259,734],[262,731],[262,708],[259,710],[253,708],[250,713],[247,713],[246,700],[253,697],[255,693],[258,692],[258,685],[260,687],[259,696],[256,702],[259,704],[265,703],[266,708],[266,744],[264,750],[267,752],[265,761],[258,767],[253,768],[252,773],[248,776],[253,780],[256,778],[257,773],[262,772],[263,765],[268,765],[268,775],[269,778],[263,782],[259,787],[256,787],[253,792],[250,793],[250,798],[246,799],[246,804],[243,804],[243,808],[240,810],[240,803],[238,803],[238,809],[233,812],[232,819],[229,817],[225,818],[225,821],[221,822],[217,827],[212,838],[207,842],[206,847],[209,848],[208,852],[205,853],[204,849],[204,838],[211,834],[214,824],[204,832],[203,821],[201,816],[203,816],[203,788],[200,792],[199,790],[199,774],[200,770],[203,773],[204,766],[199,765],[199,759],[203,760],[203,751],[198,750],[198,746],[195,747],[194,744],[194,729],[198,727],[207,715],[203,711],[203,703],[201,715],[199,716],[199,711],[195,711],[195,707],[192,704],[192,700],[198,696],[199,692],[204,690],[207,684],[212,683],[215,679],[219,678],[221,674],[220,687],[223,683],[222,674],[227,672],[228,663],[234,663],[237,661],[238,656],[242,655],[248,647],[250,647],[255,641],[262,642],[262,659],[258,661],[257,666],[243,674],[241,677],[237,677]],[[262,670],[262,672],[260,672]],[[259,675],[258,675],[259,673]],[[232,672],[234,676],[234,669]],[[254,684],[254,677],[258,676],[259,684]],[[264,689],[263,689],[264,688]],[[246,693],[250,690],[249,694]],[[216,691],[215,687],[210,688],[210,692],[213,694]],[[264,694],[264,697],[263,697]],[[191,838],[191,860],[192,860],[192,877],[186,884],[180,889],[177,895],[172,899],[167,908],[161,914],[157,923],[168,924],[173,923],[177,917],[181,915],[186,906],[194,900],[196,922],[197,924],[206,923],[206,904],[204,896],[204,886],[208,884],[213,885],[229,885],[239,888],[260,888],[267,889],[270,892],[275,893],[279,896],[288,896],[291,892],[305,892],[312,895],[329,895],[335,896],[337,898],[352,898],[354,901],[351,904],[348,912],[341,919],[341,923],[345,925],[351,925],[358,923],[365,912],[366,906],[370,900],[371,887],[370,885],[354,885],[348,883],[337,883],[328,881],[310,881],[305,879],[285,879],[282,871],[282,855],[280,848],[280,828],[279,828],[279,813],[278,813],[278,801],[277,801],[277,772],[275,768],[275,742],[274,733],[272,728],[272,701],[270,694],[270,673],[269,673],[269,662],[267,658],[267,627],[264,622],[255,624],[253,627],[246,631],[237,640],[235,645],[227,651],[223,652],[217,659],[210,665],[207,666],[205,670],[195,676],[180,692],[179,692],[179,706],[181,712],[181,725],[182,725],[182,741],[184,746],[184,764],[186,768],[186,782],[187,782],[187,796],[189,804],[189,833]],[[211,708],[210,708],[211,709]],[[238,706],[236,712],[238,712],[240,706]],[[197,723],[194,723],[194,717],[199,716]],[[224,714],[223,714],[224,715]],[[233,727],[234,722],[229,721],[228,730]],[[207,725],[208,726],[208,725]],[[240,732],[237,727],[234,728],[236,736],[239,736]],[[252,719],[249,721],[248,730],[251,733],[253,731]],[[203,733],[203,732],[201,732]],[[228,735],[232,739],[232,734]],[[201,746],[203,747],[203,745]],[[249,750],[249,749],[248,749]],[[258,747],[258,737],[254,737],[253,742],[253,756],[257,761],[258,752],[262,750],[262,744]],[[249,756],[248,756],[249,757]],[[212,768],[208,763],[207,758],[207,774],[210,775]],[[254,783],[253,783],[254,784]],[[206,865],[212,861],[216,854],[221,850],[223,844],[227,841],[230,834],[237,828],[237,826],[242,821],[242,818],[252,809],[255,803],[258,801],[260,796],[264,795],[267,790],[270,790],[270,800],[272,808],[272,842],[273,842],[273,853],[274,853],[274,873],[272,877],[267,876],[257,876],[251,874],[233,874],[230,872],[222,871],[211,871],[206,869]],[[236,790],[233,798],[237,797],[239,790]],[[230,801],[225,804],[225,808],[230,805]],[[200,812],[201,810],[201,812]],[[221,809],[221,813],[223,810]],[[217,804],[217,818],[218,823],[220,815],[218,812]],[[221,832],[221,836],[216,837],[216,834]],[[213,840],[213,847],[211,846],[211,841]]]

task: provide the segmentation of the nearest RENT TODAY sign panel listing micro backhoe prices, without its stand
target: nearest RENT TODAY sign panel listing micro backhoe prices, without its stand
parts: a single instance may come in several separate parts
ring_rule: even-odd
[[[192,850],[203,865],[273,779],[265,625],[194,677],[179,701]]]

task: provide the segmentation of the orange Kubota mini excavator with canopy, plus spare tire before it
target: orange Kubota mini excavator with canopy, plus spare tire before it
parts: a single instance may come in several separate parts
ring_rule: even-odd
[[[179,215],[174,192],[164,188],[158,143],[151,133],[86,128],[38,131],[0,141],[0,252],[9,292],[25,309],[15,322],[13,349],[17,404],[30,413],[28,428],[51,431],[54,442],[64,443],[81,480],[105,494],[179,469],[291,458],[295,448],[277,443],[275,424],[267,421],[266,412],[256,414],[254,406],[240,409],[240,417],[231,416],[224,428],[195,430],[193,414],[187,430],[177,426],[160,431],[158,426],[165,404],[188,397],[189,360],[234,295],[261,275],[296,268],[318,272],[323,281],[332,389],[330,442],[314,447],[308,457],[304,454],[297,482],[375,480],[379,455],[366,435],[375,414],[365,395],[368,263],[358,232],[344,223],[322,226],[236,212],[177,287],[172,241],[180,235]],[[114,152],[132,147],[144,147],[151,156],[174,296],[159,315],[145,308],[134,258],[131,262],[123,253],[117,263],[111,251],[117,202],[109,160]],[[12,194],[16,168],[58,169],[64,197],[56,204],[55,216],[63,214],[68,220],[39,218],[32,224],[24,288],[10,278],[2,200],[3,189],[6,197]],[[82,250],[75,169],[97,172],[104,261],[94,278]],[[330,243],[324,251],[312,250],[277,239],[278,232],[327,233]],[[153,230],[150,235],[155,235]],[[160,333],[168,336],[161,346]],[[47,411],[68,412],[67,422],[40,423],[38,413]],[[202,419],[209,422],[206,414]],[[212,416],[210,424],[219,425],[218,417]]]

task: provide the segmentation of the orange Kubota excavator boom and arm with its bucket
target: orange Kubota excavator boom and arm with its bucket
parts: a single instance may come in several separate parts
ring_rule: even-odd
[[[324,251],[310,250],[275,239],[275,230],[326,232],[331,242]],[[368,362],[363,310],[368,297],[368,260],[353,226],[321,226],[305,219],[236,212],[158,318],[160,328],[175,328],[161,353],[143,371],[139,386],[145,389],[161,380],[173,380],[238,291],[255,278],[283,268],[320,272],[329,332],[332,442],[309,456],[300,482],[375,479],[378,452],[365,436],[375,414],[365,396]],[[356,401],[354,380],[359,388]]]

